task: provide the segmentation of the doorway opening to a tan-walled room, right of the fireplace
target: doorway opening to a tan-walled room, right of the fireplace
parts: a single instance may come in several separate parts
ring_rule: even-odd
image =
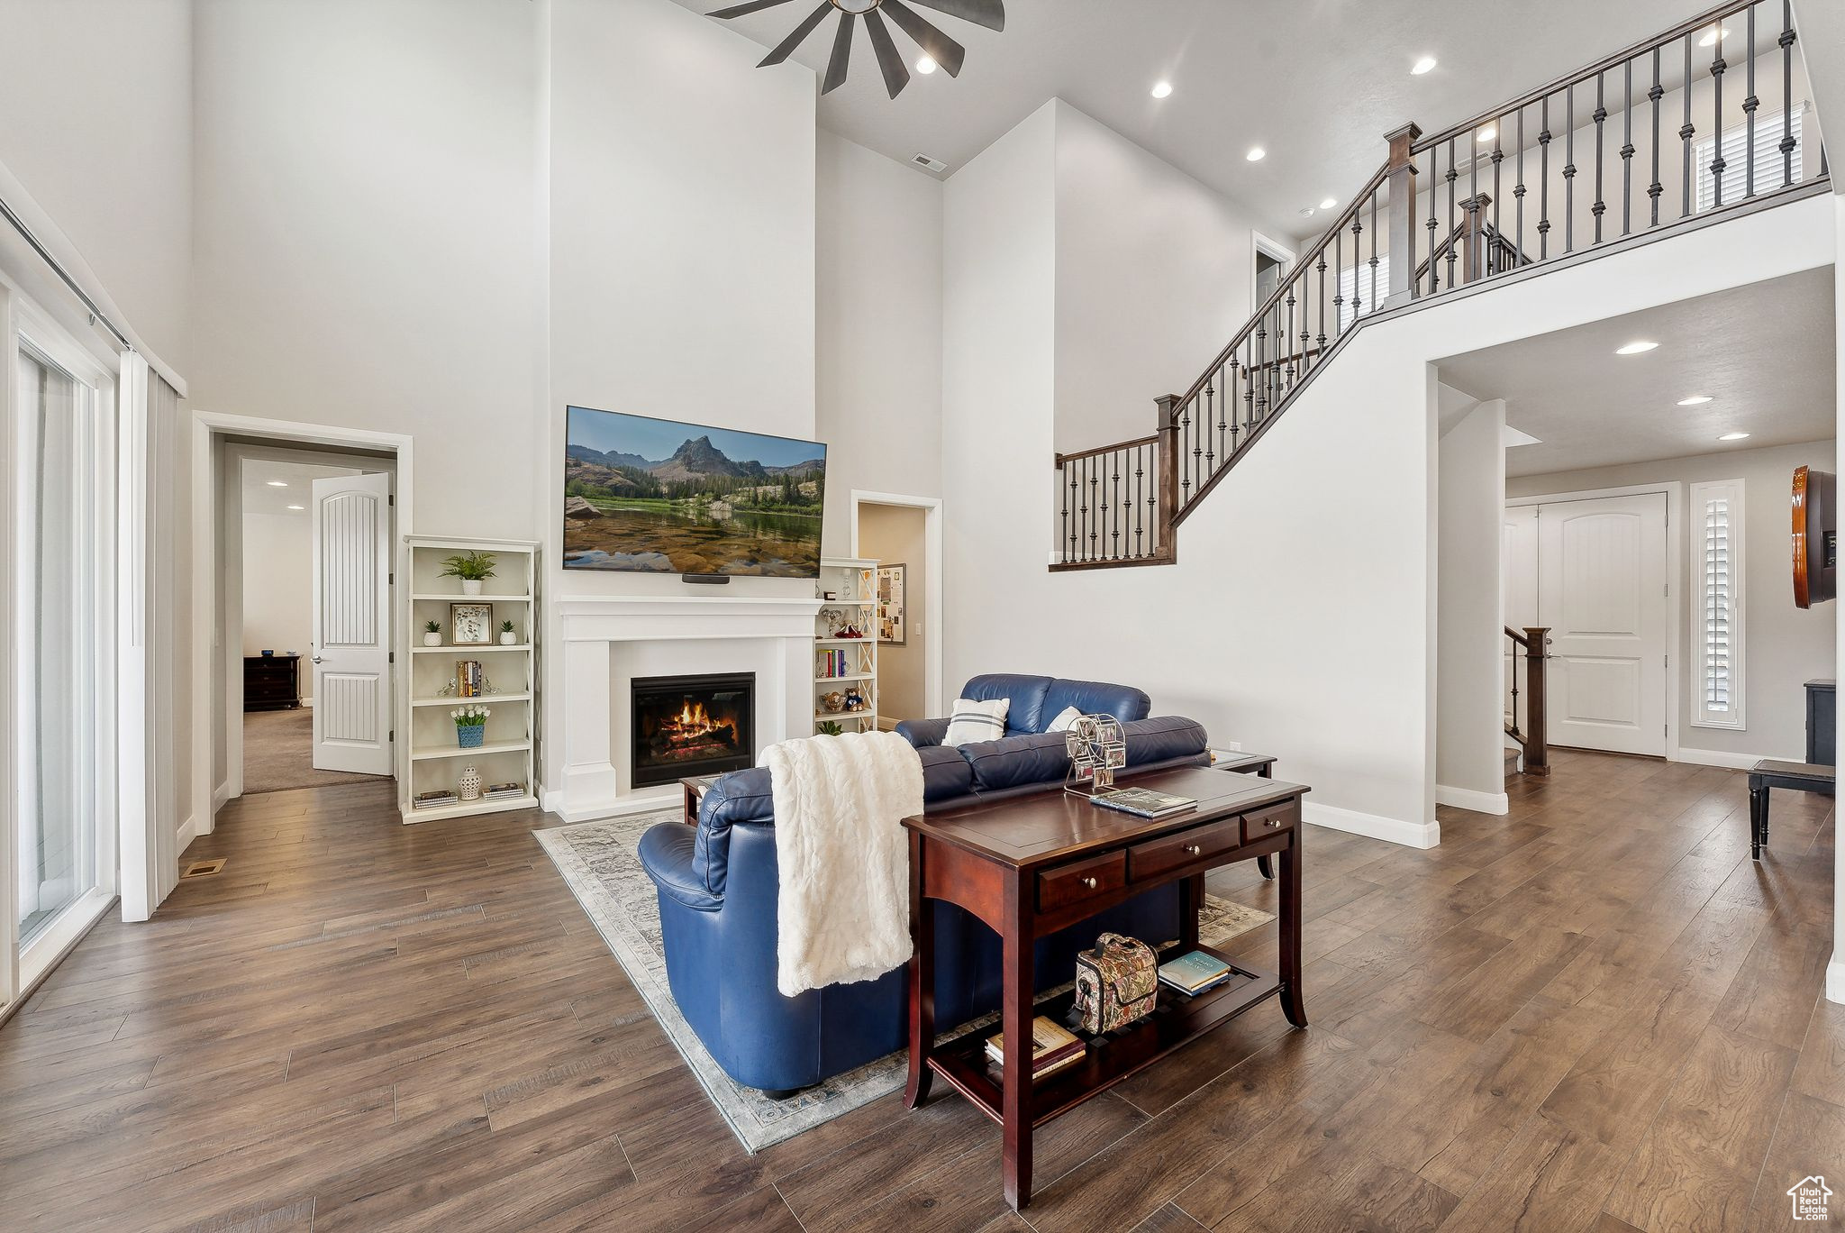
[[[878,563],[878,727],[941,714],[941,498],[854,491],[852,556]]]

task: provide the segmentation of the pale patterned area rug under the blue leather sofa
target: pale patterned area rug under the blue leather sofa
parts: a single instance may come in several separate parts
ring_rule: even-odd
[[[723,1072],[699,1043],[697,1034],[692,1032],[692,1024],[679,1013],[666,986],[661,906],[653,893],[653,882],[648,880],[648,873],[635,855],[642,832],[661,821],[679,823],[681,812],[670,808],[631,814],[574,827],[552,827],[535,834],[744,1148],[760,1152],[902,1087],[908,1067],[902,1050],[856,1071],[836,1074],[819,1087],[810,1087],[788,1100],[769,1100],[760,1091],[742,1087]],[[1271,919],[1268,912],[1207,893],[1197,932],[1203,941],[1223,945]],[[956,1034],[980,1030],[994,1019],[996,1015],[989,1015],[963,1024]]]

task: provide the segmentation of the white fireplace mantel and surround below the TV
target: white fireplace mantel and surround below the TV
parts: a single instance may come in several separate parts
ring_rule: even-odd
[[[627,705],[631,664],[648,655],[729,672],[747,655],[756,672],[756,748],[812,729],[814,618],[821,600],[806,596],[576,594],[552,602],[561,650],[546,672],[561,692],[561,777],[546,784],[544,807],[570,821],[659,808],[677,786],[631,790],[625,749],[616,749],[618,709]],[[705,646],[699,646],[699,644]],[[708,655],[705,652],[708,648]],[[721,659],[721,655],[732,659]],[[705,661],[710,659],[707,664]],[[550,711],[550,709],[548,709]]]

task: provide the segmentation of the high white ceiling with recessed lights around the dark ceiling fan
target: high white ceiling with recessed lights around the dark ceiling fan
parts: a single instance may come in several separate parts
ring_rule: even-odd
[[[679,0],[705,13],[723,0]],[[1299,214],[1345,199],[1384,162],[1384,133],[1415,120],[1459,124],[1507,98],[1651,37],[1705,0],[1007,0],[1006,31],[919,13],[967,48],[961,76],[911,74],[895,100],[863,30],[847,83],[819,124],[904,162],[928,153],[948,174],[1057,96],[1242,201],[1275,229],[1317,234]],[[790,0],[723,22],[764,48],[814,9]],[[825,66],[838,18],[795,59]],[[893,37],[913,65],[921,55]],[[1435,55],[1421,78],[1410,65]],[[1170,79],[1166,100],[1149,96]],[[817,83],[815,83],[815,89]],[[1268,150],[1247,162],[1251,146]]]

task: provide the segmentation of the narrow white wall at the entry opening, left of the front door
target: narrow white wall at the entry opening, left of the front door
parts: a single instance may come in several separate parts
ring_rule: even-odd
[[[1506,742],[1500,522],[1506,402],[1480,402],[1441,436],[1435,600],[1435,799],[1502,814]]]

